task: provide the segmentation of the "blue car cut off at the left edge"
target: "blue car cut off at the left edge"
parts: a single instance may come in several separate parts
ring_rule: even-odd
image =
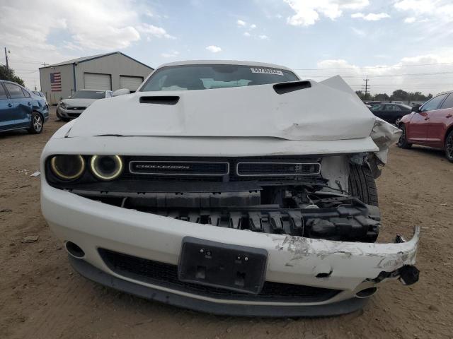
[[[0,80],[0,132],[26,129],[38,134],[47,119],[45,98],[32,95],[17,83]]]

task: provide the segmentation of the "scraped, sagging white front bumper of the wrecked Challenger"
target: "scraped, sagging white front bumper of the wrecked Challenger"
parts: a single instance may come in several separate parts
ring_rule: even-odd
[[[57,236],[84,250],[82,259],[72,261],[83,275],[142,297],[202,311],[217,309],[215,313],[219,314],[321,316],[354,311],[363,305],[362,299],[356,297],[357,292],[398,278],[399,268],[415,263],[418,247],[418,228],[413,239],[399,244],[333,242],[247,232],[110,206],[54,189],[45,181],[42,182],[41,203],[42,213]],[[99,252],[99,249],[108,249],[176,266],[184,237],[265,249],[268,252],[266,282],[339,292],[316,301],[210,296],[119,274]],[[382,275],[383,272],[393,274]],[[386,278],[378,278],[382,276]],[[268,311],[266,307],[275,311]]]

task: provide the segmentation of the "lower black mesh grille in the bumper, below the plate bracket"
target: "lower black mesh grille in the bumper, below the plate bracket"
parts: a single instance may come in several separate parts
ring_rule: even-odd
[[[268,302],[323,302],[338,295],[340,290],[321,287],[272,283],[266,281],[263,290],[258,295],[224,290],[193,283],[183,283],[178,280],[178,266],[159,263],[136,256],[121,254],[108,249],[99,249],[99,254],[105,264],[113,272],[124,277],[139,280],[144,283],[160,285],[172,290],[179,290],[195,295],[217,297],[219,299],[234,299],[244,301]]]

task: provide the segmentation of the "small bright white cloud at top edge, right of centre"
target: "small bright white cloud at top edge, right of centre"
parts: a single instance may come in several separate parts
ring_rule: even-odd
[[[357,10],[369,5],[368,0],[284,0],[295,12],[287,18],[287,23],[294,26],[314,25],[320,14],[335,20],[343,14],[343,10]]]

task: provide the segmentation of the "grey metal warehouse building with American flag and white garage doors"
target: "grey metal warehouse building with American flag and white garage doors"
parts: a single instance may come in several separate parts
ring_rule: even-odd
[[[153,69],[121,52],[93,55],[40,68],[41,92],[51,105],[76,90],[137,90]]]

